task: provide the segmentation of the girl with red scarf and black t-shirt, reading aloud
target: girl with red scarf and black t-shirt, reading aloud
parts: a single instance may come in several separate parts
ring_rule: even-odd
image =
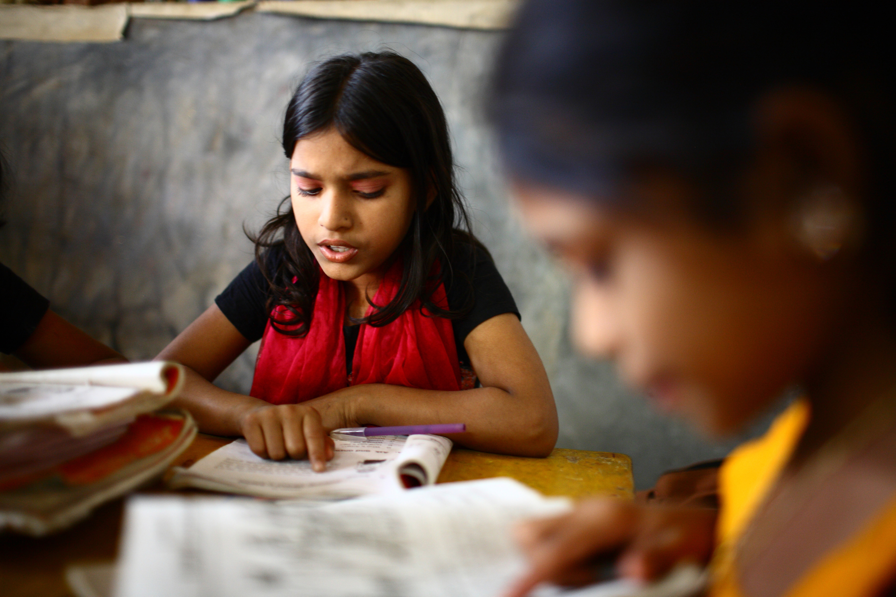
[[[464,422],[469,447],[547,456],[557,419],[513,297],[471,235],[444,113],[391,52],[340,55],[299,84],[283,126],[290,195],[255,257],[160,354],[178,403],[259,456],[332,457],[327,431]],[[255,340],[250,396],[211,384]]]

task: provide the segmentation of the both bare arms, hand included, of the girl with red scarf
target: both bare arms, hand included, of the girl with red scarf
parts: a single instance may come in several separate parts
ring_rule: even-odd
[[[193,370],[176,405],[187,408],[202,431],[243,435],[260,456],[304,456],[306,448],[313,461],[314,456],[329,456],[329,442],[314,423],[317,414],[325,431],[365,424],[464,422],[468,432],[452,436],[461,445],[520,456],[547,456],[556,443],[556,407],[547,374],[512,313],[470,332],[464,346],[483,387],[459,392],[368,384],[301,405],[272,406],[211,384],[248,345],[212,305],[157,358]]]

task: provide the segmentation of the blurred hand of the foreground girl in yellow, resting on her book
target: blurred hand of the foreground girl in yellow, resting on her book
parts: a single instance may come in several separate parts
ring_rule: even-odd
[[[582,585],[600,580],[600,560],[641,581],[664,576],[683,561],[709,561],[718,511],[643,507],[588,499],[572,512],[519,525],[516,536],[530,569],[505,597],[523,597],[538,584]]]

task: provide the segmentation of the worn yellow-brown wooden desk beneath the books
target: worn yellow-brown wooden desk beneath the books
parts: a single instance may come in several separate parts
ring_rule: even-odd
[[[227,444],[230,438],[200,434],[173,465],[189,466]],[[612,495],[633,498],[632,461],[623,454],[555,449],[547,458],[500,456],[455,448],[438,482],[506,476],[546,495],[582,498]],[[146,491],[168,492],[162,482]],[[35,539],[0,534],[0,595],[71,597],[65,566],[73,562],[115,559],[124,499],[97,508],[78,525]]]

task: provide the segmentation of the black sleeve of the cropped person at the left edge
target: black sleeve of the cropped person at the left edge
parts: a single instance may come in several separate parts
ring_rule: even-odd
[[[0,352],[14,353],[38,328],[50,302],[0,263]]]

